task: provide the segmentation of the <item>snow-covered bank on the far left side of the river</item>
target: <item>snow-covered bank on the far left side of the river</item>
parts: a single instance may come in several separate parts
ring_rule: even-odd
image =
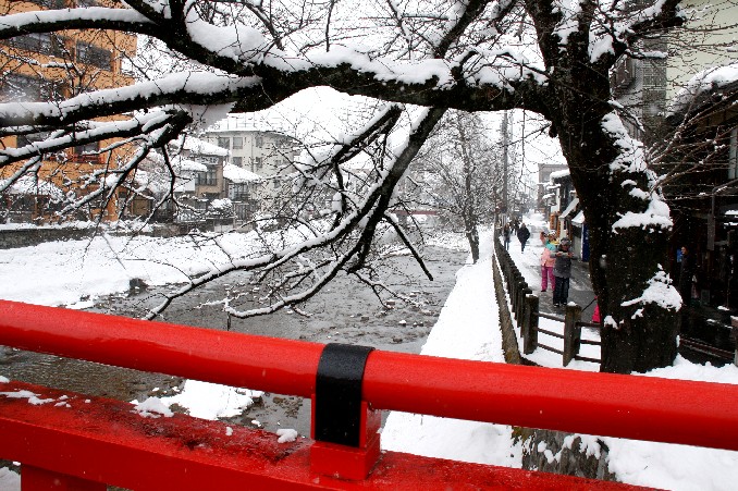
[[[233,246],[246,235],[226,234]],[[213,241],[101,235],[89,240],[47,242],[34,247],[0,249],[0,298],[66,306],[86,297],[128,291],[128,281],[149,285],[187,281],[226,256]]]

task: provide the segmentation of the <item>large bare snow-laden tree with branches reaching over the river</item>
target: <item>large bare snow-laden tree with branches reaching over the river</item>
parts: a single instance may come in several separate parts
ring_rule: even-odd
[[[304,223],[310,233],[299,245],[234,260],[187,287],[233,270],[273,275],[282,296],[271,311],[308,298],[341,271],[360,275],[380,224],[404,237],[388,209],[447,109],[532,111],[558,135],[591,228],[592,279],[606,319],[602,369],[643,371],[676,355],[679,305],[664,269],[671,219],[641,147],[612,102],[608,72],[642,38],[681,25],[678,4],[664,0],[626,12],[620,2],[594,0],[127,0],[119,9],[13,13],[0,20],[0,39],[70,29],[135,33],[186,63],[123,88],[0,105],[1,135],[48,132],[39,142],[2,149],[0,164],[17,179],[38,171],[44,155],[73,145],[135,142],[133,156],[106,168],[96,191],[71,204],[78,206],[113,199],[148,152],[207,119],[207,108],[253,112],[316,86],[388,102],[329,156],[299,171],[303,186],[334,188],[330,226]],[[403,142],[390,145],[403,105],[425,109],[411,112]],[[342,163],[372,146],[382,160],[367,179],[371,184],[355,193]],[[634,254],[634,244],[644,247]]]

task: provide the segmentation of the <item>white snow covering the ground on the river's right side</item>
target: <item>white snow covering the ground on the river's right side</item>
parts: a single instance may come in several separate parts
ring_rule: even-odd
[[[421,354],[504,363],[499,309],[490,271],[491,237],[485,236],[482,244],[480,261],[467,265],[457,273],[456,287]],[[538,255],[531,249],[531,254],[525,253],[524,257],[537,260]],[[570,367],[592,369],[593,364],[586,364],[587,368],[582,364],[575,361]],[[561,368],[561,357],[549,366]],[[637,377],[735,384],[738,383],[738,367],[694,365],[677,357],[673,367]],[[582,452],[599,453],[601,443],[607,446],[610,470],[623,482],[678,491],[728,491],[736,489],[738,482],[738,452],[610,437],[580,437]],[[514,444],[512,428],[503,425],[395,412],[388,418],[382,445],[386,450],[418,455],[521,467],[521,446]],[[551,458],[557,456],[552,454]],[[463,480],[463,476],[459,479]]]

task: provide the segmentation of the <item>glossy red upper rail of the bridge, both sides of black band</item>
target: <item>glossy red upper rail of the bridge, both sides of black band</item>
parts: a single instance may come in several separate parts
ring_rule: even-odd
[[[321,344],[0,302],[2,344],[310,396]],[[738,450],[738,386],[374,351],[364,400],[530,428]]]

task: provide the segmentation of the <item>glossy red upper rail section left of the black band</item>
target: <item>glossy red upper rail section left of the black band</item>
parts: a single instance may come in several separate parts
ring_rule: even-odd
[[[322,344],[0,300],[0,344],[310,397]]]

